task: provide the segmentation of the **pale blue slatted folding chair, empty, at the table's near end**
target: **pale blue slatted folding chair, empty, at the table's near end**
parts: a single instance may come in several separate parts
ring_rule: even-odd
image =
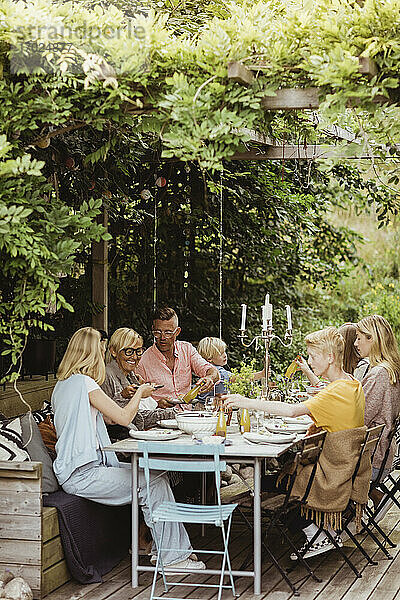
[[[220,486],[221,486],[221,471],[226,469],[226,462],[220,458],[222,447],[215,445],[183,445],[183,444],[171,444],[160,443],[160,442],[139,442],[139,450],[143,452],[143,457],[139,459],[139,466],[143,468],[147,494],[150,497],[150,470],[153,471],[183,471],[183,472],[197,472],[197,473],[215,473],[215,487],[217,496],[217,505],[204,506],[199,504],[183,504],[176,502],[163,502],[157,506],[156,509],[152,509],[150,506],[150,519],[152,525],[152,532],[154,542],[157,547],[157,562],[154,571],[153,585],[151,587],[150,600],[179,600],[177,598],[171,598],[167,596],[155,596],[155,586],[157,580],[157,574],[161,571],[162,578],[164,581],[165,591],[168,592],[168,585],[181,585],[189,587],[209,587],[218,588],[218,600],[221,600],[222,590],[231,589],[233,596],[236,595],[235,584],[232,576],[232,567],[229,559],[228,543],[229,535],[232,522],[232,514],[237,504],[221,504]],[[173,456],[160,456],[160,455],[173,455]],[[195,456],[195,460],[191,460],[188,457]],[[183,458],[185,457],[185,458]],[[205,583],[180,583],[180,582],[167,582],[166,572],[163,563],[163,551],[166,550],[180,550],[180,548],[164,548],[163,537],[164,537],[164,524],[166,522],[173,523],[201,523],[215,525],[221,528],[222,540],[224,544],[223,550],[193,550],[198,554],[221,554],[222,564],[219,578],[219,584],[205,584]],[[160,539],[155,531],[155,523],[162,523],[162,533]],[[173,565],[171,565],[173,568]],[[230,585],[224,585],[224,576],[229,575]],[[183,571],[184,572],[184,571]],[[202,571],[196,571],[201,573]],[[168,573],[167,573],[168,574]]]

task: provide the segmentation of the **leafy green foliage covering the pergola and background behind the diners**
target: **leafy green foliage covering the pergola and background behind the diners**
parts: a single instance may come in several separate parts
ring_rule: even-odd
[[[381,226],[398,210],[400,1],[362,4],[0,0],[0,334],[13,363],[28,333],[55,327],[65,341],[101,309],[90,300],[89,257],[91,242],[111,239],[96,221],[102,207],[111,329],[146,332],[156,204],[158,300],[178,307],[185,337],[217,334],[221,185],[227,341],[241,302],[259,308],[266,291],[304,324],[307,303],[318,303],[306,290],[337,285],[358,262],[357,235],[330,210],[372,207]],[[57,50],[50,31],[61,26],[67,46]],[[376,61],[377,75],[359,72],[360,56]],[[230,60],[260,65],[252,86],[227,78]],[[279,87],[315,85],[319,128],[307,113],[261,108]],[[356,135],[338,157],[370,155],[374,180],[361,163],[228,160],[251,146],[245,128],[297,144],[327,141],[333,123]],[[258,320],[254,311],[250,326]]]

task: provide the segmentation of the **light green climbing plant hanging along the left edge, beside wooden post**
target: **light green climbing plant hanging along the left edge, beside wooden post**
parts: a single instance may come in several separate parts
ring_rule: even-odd
[[[30,329],[51,329],[45,321],[49,306],[72,310],[58,293],[59,276],[72,270],[82,246],[109,236],[95,223],[99,200],[72,210],[52,192],[41,174],[42,162],[27,154],[11,159],[9,153],[1,135],[0,337],[13,380]]]

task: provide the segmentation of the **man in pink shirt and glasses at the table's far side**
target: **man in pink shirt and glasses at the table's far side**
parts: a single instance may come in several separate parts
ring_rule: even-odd
[[[163,387],[152,392],[160,403],[166,398],[186,394],[192,385],[192,373],[201,377],[201,392],[210,391],[219,381],[218,370],[200,356],[189,342],[177,341],[181,332],[173,308],[159,308],[153,316],[154,344],[143,354],[136,374],[144,381]]]

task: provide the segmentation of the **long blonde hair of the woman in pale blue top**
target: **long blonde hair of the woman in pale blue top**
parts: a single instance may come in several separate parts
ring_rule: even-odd
[[[63,381],[71,375],[88,375],[101,385],[106,376],[101,335],[93,327],[75,331],[69,341],[57,371],[57,379]]]

